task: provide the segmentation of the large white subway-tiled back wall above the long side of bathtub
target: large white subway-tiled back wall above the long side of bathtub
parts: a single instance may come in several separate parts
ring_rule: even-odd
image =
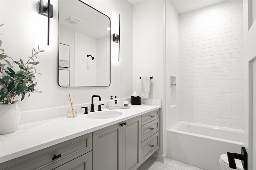
[[[243,4],[179,16],[180,120],[243,129]]]

